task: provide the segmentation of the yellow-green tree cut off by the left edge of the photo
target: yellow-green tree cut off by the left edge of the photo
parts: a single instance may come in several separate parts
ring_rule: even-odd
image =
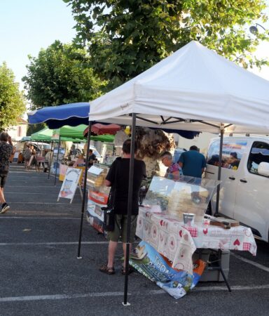
[[[15,82],[12,70],[4,62],[0,65],[0,130],[16,125],[17,119],[25,112],[25,100]]]

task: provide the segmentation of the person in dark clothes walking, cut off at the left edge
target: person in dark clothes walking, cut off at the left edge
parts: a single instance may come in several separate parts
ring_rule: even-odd
[[[11,154],[14,153],[14,147],[11,141],[11,136],[8,133],[2,132],[0,134],[0,213],[6,213],[10,206],[6,203],[4,197],[4,186],[6,183],[6,177],[8,176],[9,159]]]

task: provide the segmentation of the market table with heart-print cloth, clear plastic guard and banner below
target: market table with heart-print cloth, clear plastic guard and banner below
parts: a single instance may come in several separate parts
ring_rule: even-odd
[[[235,221],[233,223],[236,225],[232,227],[228,220],[204,218],[207,203],[218,182],[205,178],[199,180],[184,176],[177,181],[153,177],[144,206],[139,208],[136,235],[143,242],[139,244],[138,249],[149,248],[150,245],[170,261],[170,270],[174,269],[174,273],[172,277],[166,275],[167,282],[172,282],[178,271],[186,272],[185,277],[192,279],[195,273],[193,263],[200,258],[207,272],[200,274],[204,281],[224,280],[230,290],[227,280],[229,250],[249,251],[255,256],[256,243],[250,228],[240,226]],[[195,253],[196,249],[198,251]],[[158,284],[159,274],[165,270],[161,270],[156,261],[151,261],[150,264],[147,261],[142,263],[142,259],[147,256],[146,252],[145,250],[144,254],[141,254],[140,250],[137,258],[132,256],[130,263],[139,272],[152,270],[151,276],[155,278],[153,281]],[[208,263],[211,254],[217,257],[214,268]],[[146,276],[148,277],[147,274]],[[182,287],[186,287],[184,282],[186,279],[181,275],[181,282],[177,280],[177,287],[173,290],[174,297],[186,294],[186,291],[182,291]],[[189,285],[189,289],[195,286],[192,283]],[[163,287],[165,285],[162,284]]]

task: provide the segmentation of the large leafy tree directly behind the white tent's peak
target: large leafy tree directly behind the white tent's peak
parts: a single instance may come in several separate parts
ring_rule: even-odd
[[[94,70],[113,88],[181,48],[200,41],[243,67],[263,65],[251,53],[265,33],[246,25],[263,13],[264,0],[63,0],[76,20],[76,42],[88,45]]]

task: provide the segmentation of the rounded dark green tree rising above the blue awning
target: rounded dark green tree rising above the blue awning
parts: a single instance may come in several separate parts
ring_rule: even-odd
[[[85,102],[97,98],[105,81],[93,75],[88,53],[71,44],[55,41],[29,56],[25,81],[32,110],[50,105]]]

